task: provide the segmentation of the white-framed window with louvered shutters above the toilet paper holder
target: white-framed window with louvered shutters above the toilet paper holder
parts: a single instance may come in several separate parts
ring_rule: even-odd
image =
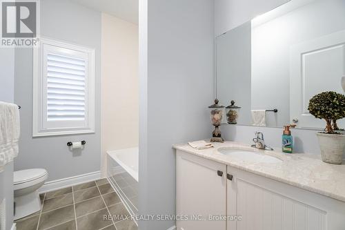
[[[51,39],[34,48],[34,137],[95,132],[95,50]]]

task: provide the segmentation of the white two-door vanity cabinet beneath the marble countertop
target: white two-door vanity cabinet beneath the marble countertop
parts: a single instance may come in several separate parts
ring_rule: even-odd
[[[177,220],[177,230],[345,229],[345,202],[179,150],[176,166],[177,215],[241,216]]]

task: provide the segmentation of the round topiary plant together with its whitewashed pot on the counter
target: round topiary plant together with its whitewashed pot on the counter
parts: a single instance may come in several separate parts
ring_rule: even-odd
[[[342,164],[345,135],[336,130],[337,120],[345,117],[345,96],[335,92],[319,93],[309,101],[308,111],[314,117],[326,121],[324,132],[317,133],[322,160]]]

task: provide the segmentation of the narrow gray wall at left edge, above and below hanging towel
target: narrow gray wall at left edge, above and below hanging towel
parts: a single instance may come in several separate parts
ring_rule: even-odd
[[[13,103],[14,99],[14,48],[0,48],[0,101]],[[13,222],[13,162],[0,173],[0,202],[6,199],[6,229]]]

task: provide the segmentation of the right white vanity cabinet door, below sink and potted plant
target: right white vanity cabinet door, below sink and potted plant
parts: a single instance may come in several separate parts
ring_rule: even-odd
[[[344,230],[345,203],[228,166],[228,230]]]

